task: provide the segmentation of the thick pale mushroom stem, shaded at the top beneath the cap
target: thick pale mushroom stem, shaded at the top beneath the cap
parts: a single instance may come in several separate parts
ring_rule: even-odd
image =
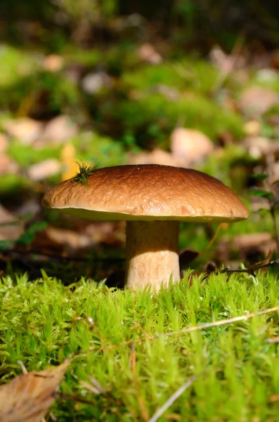
[[[179,222],[126,222],[126,286],[159,290],[180,280]]]

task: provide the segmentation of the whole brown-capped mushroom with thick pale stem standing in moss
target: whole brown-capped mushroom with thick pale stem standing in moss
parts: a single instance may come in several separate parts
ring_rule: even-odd
[[[76,181],[74,183],[74,181]],[[69,179],[42,205],[92,220],[126,220],[126,286],[158,290],[180,280],[179,222],[237,222],[249,216],[230,188],[209,175],[165,165],[123,165]]]

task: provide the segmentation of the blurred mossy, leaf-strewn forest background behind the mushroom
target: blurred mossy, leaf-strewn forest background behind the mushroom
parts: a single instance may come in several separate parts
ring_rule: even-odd
[[[21,256],[11,248],[124,257],[122,224],[41,210],[43,194],[73,177],[76,161],[195,167],[237,191],[252,217],[219,231],[226,253],[220,258],[214,243],[196,268],[275,250],[268,198],[277,200],[271,185],[279,179],[276,1],[13,0],[1,2],[0,17],[4,272]],[[265,180],[254,178],[262,173]],[[202,252],[216,229],[182,226],[181,249]],[[249,238],[259,249],[249,261],[233,239],[255,233],[269,243],[262,250],[261,236]],[[20,265],[28,269],[22,257]]]

